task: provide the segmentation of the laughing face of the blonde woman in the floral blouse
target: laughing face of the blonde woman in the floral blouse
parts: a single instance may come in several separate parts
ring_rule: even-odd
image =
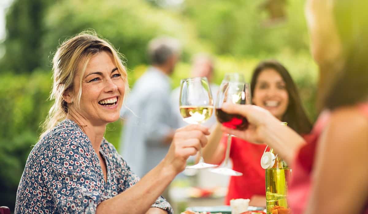
[[[79,65],[79,68],[82,66]],[[79,86],[80,75],[81,72],[78,72],[75,76],[74,86]],[[74,100],[78,93],[75,88],[77,87],[70,93]],[[100,51],[91,57],[86,66],[82,77],[80,108],[74,106],[71,114],[82,117],[96,126],[112,123],[119,119],[124,92],[124,80],[112,54]]]

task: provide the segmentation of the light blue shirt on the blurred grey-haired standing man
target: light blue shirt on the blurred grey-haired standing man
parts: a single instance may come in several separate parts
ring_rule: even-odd
[[[142,177],[166,155],[164,138],[177,128],[170,101],[170,78],[150,67],[137,80],[120,111],[124,121],[120,154]]]

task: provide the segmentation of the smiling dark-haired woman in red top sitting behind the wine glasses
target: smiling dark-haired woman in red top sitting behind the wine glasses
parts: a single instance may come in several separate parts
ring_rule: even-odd
[[[297,87],[287,69],[277,61],[265,60],[254,69],[251,79],[252,103],[267,109],[273,116],[288,123],[289,127],[301,135],[311,131],[309,121]],[[221,131],[217,123],[209,135],[209,141],[202,149],[206,163],[220,164],[224,161],[227,133]],[[265,170],[260,160],[266,148],[264,144],[252,144],[241,138],[232,137],[230,158],[233,170],[242,176],[230,178],[225,204],[231,199],[251,199],[251,206],[266,206]]]

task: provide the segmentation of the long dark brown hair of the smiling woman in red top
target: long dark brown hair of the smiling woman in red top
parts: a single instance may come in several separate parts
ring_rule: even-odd
[[[259,74],[265,69],[273,69],[280,74],[286,84],[287,94],[289,95],[289,105],[282,117],[282,121],[287,122],[294,131],[298,134],[308,134],[312,129],[312,124],[309,121],[305,110],[301,104],[301,99],[287,69],[275,60],[265,60],[260,62],[253,71],[251,80],[251,93],[254,94],[255,84]]]

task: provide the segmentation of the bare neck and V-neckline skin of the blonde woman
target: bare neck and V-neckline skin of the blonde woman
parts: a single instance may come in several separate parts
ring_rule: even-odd
[[[78,124],[84,134],[87,135],[89,141],[91,141],[92,147],[95,152],[99,154],[102,138],[105,134],[107,124],[93,124],[91,121],[74,111],[68,112],[67,119],[70,119]]]

